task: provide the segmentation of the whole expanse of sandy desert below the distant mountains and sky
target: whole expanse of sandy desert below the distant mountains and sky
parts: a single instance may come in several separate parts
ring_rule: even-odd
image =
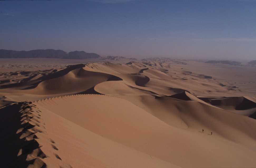
[[[256,167],[256,67],[0,61],[3,167]]]

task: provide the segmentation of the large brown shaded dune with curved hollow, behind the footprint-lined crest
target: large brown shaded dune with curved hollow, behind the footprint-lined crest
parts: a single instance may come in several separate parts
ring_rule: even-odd
[[[10,85],[4,85],[2,88],[17,87],[22,93],[51,95],[63,93],[87,93],[99,94],[94,91],[94,86],[105,81],[120,81],[121,78],[102,73],[84,70],[84,64],[67,66],[60,71],[43,75],[34,81],[26,81]]]

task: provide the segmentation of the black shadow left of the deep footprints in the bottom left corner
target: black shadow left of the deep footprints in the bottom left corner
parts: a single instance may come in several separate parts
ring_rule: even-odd
[[[35,127],[29,123],[23,123],[21,121],[22,114],[19,111],[28,107],[22,108],[23,103],[16,103],[10,106],[6,106],[0,109],[0,129],[1,129],[1,159],[2,167],[27,167],[30,164],[46,165],[38,159],[32,159],[27,161],[27,155],[31,151],[40,148],[39,144],[35,139],[27,140],[26,138],[33,133],[27,134],[28,129]],[[17,130],[22,129],[21,132],[17,133]],[[28,136],[23,137],[25,133]],[[22,138],[21,138],[22,136]],[[40,153],[39,153],[40,154]],[[45,156],[46,157],[46,156]],[[42,155],[41,155],[41,158]]]

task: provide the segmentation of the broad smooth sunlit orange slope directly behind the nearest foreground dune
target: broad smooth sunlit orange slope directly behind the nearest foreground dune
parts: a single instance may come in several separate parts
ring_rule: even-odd
[[[67,102],[72,103],[72,106]],[[184,119],[186,122],[190,121],[187,125],[193,128],[191,130],[172,127],[129,101],[112,96],[64,96],[38,101],[35,104],[95,134],[177,166],[255,166],[255,135],[253,131],[246,131],[245,122],[241,121],[238,124],[240,126],[237,126],[238,117],[241,116],[223,112],[226,119],[219,119],[221,112],[216,112],[216,108],[204,104],[200,107],[199,104],[195,104],[197,102],[193,102],[191,101],[188,109],[197,108],[193,109],[194,112],[206,109],[192,114],[191,118],[195,118],[194,120]],[[205,113],[209,108],[212,108],[211,112]],[[184,112],[181,110],[181,113]],[[228,122],[229,117],[232,118],[231,123]],[[244,117],[244,120],[255,127],[253,119]],[[209,121],[212,123],[207,125]],[[225,125],[220,125],[224,122]],[[226,128],[223,128],[224,126]],[[199,132],[200,127],[205,128],[204,133]],[[213,135],[209,135],[211,131],[214,132]],[[196,143],[198,141],[200,143]],[[215,157],[212,157],[213,155]],[[198,160],[198,156],[201,161]]]

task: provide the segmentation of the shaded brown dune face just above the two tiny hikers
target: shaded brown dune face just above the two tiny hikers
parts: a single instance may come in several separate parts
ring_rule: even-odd
[[[254,131],[248,130],[248,125],[256,126],[254,119],[201,102],[146,95],[129,101],[173,127],[192,132],[204,129],[236,143],[243,142],[243,145],[252,144],[256,138]]]

